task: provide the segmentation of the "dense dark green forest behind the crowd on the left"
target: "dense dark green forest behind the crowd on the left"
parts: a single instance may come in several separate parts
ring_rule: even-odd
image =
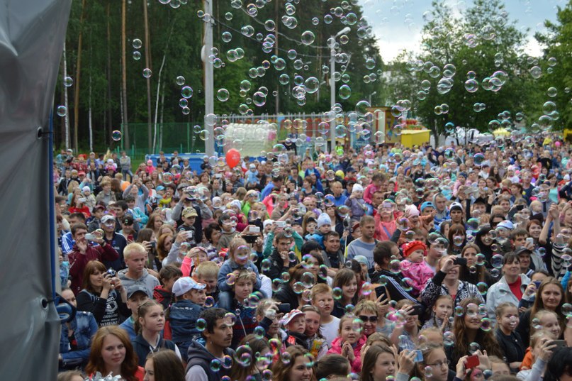
[[[79,79],[79,136],[80,150],[88,148],[88,113],[91,106],[92,123],[94,131],[94,150],[116,148],[117,142],[111,140],[111,131],[120,129],[122,123],[121,103],[121,5],[123,0],[86,1],[86,9],[82,9],[82,1],[72,3],[72,12],[69,18],[69,28],[66,37],[67,73],[76,80],[78,40],[83,38],[82,66]],[[176,9],[169,4],[161,4],[157,0],[131,0],[127,1],[126,35],[127,50],[127,108],[128,123],[147,123],[149,110],[147,108],[147,80],[142,77],[145,69],[145,20],[143,7],[147,6],[149,37],[150,37],[150,65],[152,76],[151,84],[151,113],[152,120],[157,118],[158,123],[190,123],[202,121],[204,116],[204,83],[203,61],[201,60],[201,47],[203,45],[203,27],[205,21],[201,18],[202,1],[180,1]],[[238,1],[240,3],[240,1]],[[179,4],[179,2],[177,2]],[[218,89],[228,89],[228,101],[219,101],[215,98],[215,113],[238,114],[244,111],[248,114],[274,114],[276,109],[281,113],[291,112],[321,112],[330,109],[329,85],[329,59],[330,49],[327,48],[327,39],[335,35],[346,24],[352,30],[347,34],[348,42],[340,44],[337,53],[336,70],[340,80],[336,82],[339,88],[344,82],[352,89],[347,100],[337,96],[344,110],[352,110],[357,101],[372,97],[372,104],[379,104],[383,99],[385,88],[381,79],[383,62],[376,47],[376,41],[371,34],[371,26],[362,18],[361,6],[357,1],[299,1],[298,4],[285,0],[273,0],[257,9],[255,17],[247,14],[247,2],[241,3],[240,9],[233,7],[237,1],[214,1],[213,18],[215,51],[206,52],[222,60],[222,65],[215,66],[214,82],[215,96]],[[292,17],[296,18],[298,26],[290,29],[284,25],[286,7],[295,6]],[[330,10],[335,9],[336,15]],[[343,8],[342,8],[343,7]],[[80,18],[84,13],[84,20]],[[232,20],[227,20],[225,14],[230,13]],[[351,16],[350,16],[351,14]],[[325,15],[332,16],[331,23],[325,23]],[[346,24],[342,23],[342,17]],[[313,18],[318,18],[317,25]],[[268,31],[264,23],[274,21],[276,31]],[[262,25],[261,25],[262,23]],[[248,38],[241,30],[245,26],[254,28],[253,35]],[[303,32],[311,31],[315,41],[311,45],[299,43]],[[232,34],[232,40],[226,43],[222,33]],[[276,33],[277,32],[277,33]],[[271,49],[264,51],[262,43],[269,35],[276,35],[276,43]],[[142,48],[133,48],[133,40],[142,41]],[[338,38],[340,41],[340,38]],[[323,48],[326,47],[326,48]],[[230,60],[228,50],[242,48],[245,54],[240,60]],[[288,50],[296,50],[297,57],[291,60],[287,57]],[[141,53],[140,60],[133,57],[134,51]],[[211,57],[211,60],[215,57]],[[276,70],[274,62],[280,57],[285,60],[286,68]],[[164,59],[164,66],[162,62]],[[366,68],[366,60],[373,59],[375,67]],[[294,67],[295,61],[300,59],[301,68]],[[234,62],[231,62],[234,61]],[[212,65],[207,63],[206,65]],[[161,70],[162,67],[162,70]],[[267,67],[266,70],[263,68]],[[252,74],[256,70],[259,74]],[[159,84],[161,72],[161,86]],[[280,74],[288,74],[288,84],[279,84]],[[365,74],[374,74],[364,81]],[[294,79],[300,76],[302,80],[316,77],[321,82],[318,92],[306,94],[305,102],[298,102],[292,95]],[[185,85],[194,90],[189,99],[189,114],[184,115],[179,107],[181,99],[181,86],[175,79],[183,76]],[[63,104],[62,84],[60,78],[55,91],[55,106]],[[240,94],[240,82],[248,80],[251,89],[246,94]],[[368,82],[368,83],[366,83]],[[74,84],[76,86],[76,84]],[[262,106],[255,106],[252,102],[254,92],[261,89],[267,92],[267,101]],[[264,89],[265,88],[265,89]],[[157,94],[159,92],[159,94]],[[91,97],[90,97],[91,93]],[[337,94],[337,91],[336,91]],[[276,98],[276,95],[278,98]],[[155,111],[157,97],[159,106]],[[68,88],[68,117],[70,129],[73,131],[74,120],[74,87]],[[276,106],[278,99],[278,106]],[[242,105],[242,107],[241,107]],[[157,114],[157,115],[156,115]],[[55,117],[57,137],[62,143],[64,118]],[[138,127],[138,135],[142,127]],[[130,131],[130,138],[134,132]],[[140,141],[140,136],[137,137]],[[182,139],[186,139],[186,136]],[[131,140],[131,139],[130,139]],[[73,139],[71,139],[73,141]],[[145,140],[142,140],[145,141]],[[138,144],[140,148],[142,143]]]

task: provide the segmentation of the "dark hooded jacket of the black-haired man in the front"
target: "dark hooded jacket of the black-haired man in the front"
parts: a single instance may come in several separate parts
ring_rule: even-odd
[[[234,355],[234,350],[225,348],[225,355]],[[220,367],[218,372],[211,369],[211,361],[215,359],[204,346],[198,341],[191,341],[189,350],[187,351],[189,362],[186,363],[185,380],[186,381],[220,381],[223,376],[230,374],[230,369]]]

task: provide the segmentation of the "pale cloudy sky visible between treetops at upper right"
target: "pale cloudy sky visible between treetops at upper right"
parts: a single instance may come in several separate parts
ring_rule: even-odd
[[[459,13],[472,4],[472,0],[447,0]],[[417,51],[420,42],[423,13],[431,9],[431,0],[359,0],[364,15],[369,18],[378,39],[384,62],[393,60],[400,50]],[[510,21],[517,28],[529,28],[526,52],[542,55],[542,48],[534,40],[534,33],[544,31],[544,20],[556,21],[556,6],[562,8],[565,0],[505,0]]]

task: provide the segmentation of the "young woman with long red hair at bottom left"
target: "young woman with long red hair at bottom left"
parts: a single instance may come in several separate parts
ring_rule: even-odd
[[[91,339],[89,363],[85,370],[88,375],[100,372],[103,377],[111,373],[126,381],[143,380],[143,370],[137,365],[137,355],[129,336],[118,326],[99,328]]]

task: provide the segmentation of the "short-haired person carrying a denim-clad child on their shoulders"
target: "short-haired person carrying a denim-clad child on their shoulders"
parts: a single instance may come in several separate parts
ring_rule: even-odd
[[[259,294],[262,294],[257,292],[256,296],[251,296],[257,282],[257,275],[254,272],[241,269],[237,270],[235,274],[235,283],[232,285],[232,293],[234,294],[232,311],[235,311],[237,316],[235,325],[232,327],[231,348],[236,348],[242,338],[254,332],[254,328],[257,327],[256,306],[251,305],[250,298],[258,298]],[[259,299],[263,298],[259,297]]]

